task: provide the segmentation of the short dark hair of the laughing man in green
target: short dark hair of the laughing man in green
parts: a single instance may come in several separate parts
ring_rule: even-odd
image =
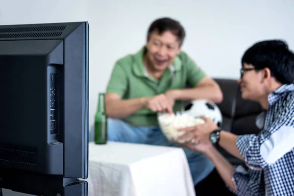
[[[166,31],[172,31],[172,33],[177,36],[180,46],[182,46],[185,38],[184,27],[178,22],[171,18],[160,18],[155,20],[148,29],[147,40],[150,39],[151,34],[154,31],[158,31],[159,35]]]

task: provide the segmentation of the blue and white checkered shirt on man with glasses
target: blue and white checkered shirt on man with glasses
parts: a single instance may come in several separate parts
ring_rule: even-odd
[[[238,196],[294,196],[294,84],[272,92],[263,128],[242,135],[237,147],[248,167],[234,168]]]

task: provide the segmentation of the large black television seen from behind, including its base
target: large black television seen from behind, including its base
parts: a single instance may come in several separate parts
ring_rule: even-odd
[[[88,22],[0,25],[0,188],[85,196]]]

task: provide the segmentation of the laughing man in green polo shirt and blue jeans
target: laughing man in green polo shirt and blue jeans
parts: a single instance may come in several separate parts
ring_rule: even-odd
[[[221,102],[217,83],[181,51],[184,37],[177,21],[158,19],[149,27],[146,46],[116,62],[105,95],[109,141],[176,146],[158,127],[157,112],[180,111],[183,100]],[[184,151],[197,184],[214,165],[200,152]]]

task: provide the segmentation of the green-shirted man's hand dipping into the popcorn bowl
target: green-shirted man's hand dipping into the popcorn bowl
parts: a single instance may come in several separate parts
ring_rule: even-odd
[[[165,94],[160,94],[149,98],[146,104],[146,107],[154,112],[173,113],[172,106],[173,104],[171,104]]]

